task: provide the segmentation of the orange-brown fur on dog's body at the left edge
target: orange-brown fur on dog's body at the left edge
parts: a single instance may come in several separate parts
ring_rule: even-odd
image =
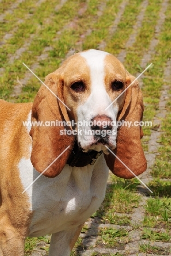
[[[19,177],[19,161],[30,158],[31,137],[26,121],[32,103],[13,104],[0,101],[0,247],[2,255],[23,255],[25,237],[32,212]]]

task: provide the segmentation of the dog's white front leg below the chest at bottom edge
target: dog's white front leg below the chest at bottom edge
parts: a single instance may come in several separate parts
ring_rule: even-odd
[[[64,230],[52,234],[49,256],[69,256],[80,235],[83,225],[84,224],[81,224],[75,229]]]

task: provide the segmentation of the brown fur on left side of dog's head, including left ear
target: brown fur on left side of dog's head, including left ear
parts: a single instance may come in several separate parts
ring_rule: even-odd
[[[74,67],[74,72],[73,72]],[[75,92],[71,85],[82,81],[85,92]],[[71,110],[59,101],[44,85],[38,91],[33,102],[32,121],[75,120],[78,106],[84,103],[91,92],[90,70],[84,57],[75,54],[63,62],[54,73],[49,74],[45,84],[64,102]],[[78,120],[75,120],[78,121]],[[70,148],[57,159],[52,166],[44,172],[44,176],[55,177],[62,171],[74,144],[73,135],[60,135],[64,126],[43,127],[32,126],[30,135],[33,139],[31,161],[37,171],[42,173],[68,146]],[[70,128],[71,129],[71,128]]]

